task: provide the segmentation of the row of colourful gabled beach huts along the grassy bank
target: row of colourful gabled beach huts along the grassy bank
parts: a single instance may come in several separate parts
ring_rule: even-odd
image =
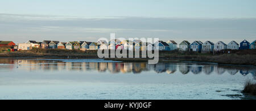
[[[0,46],[3,46],[0,41]],[[4,42],[6,44],[6,42]],[[13,42],[12,42],[13,43]],[[230,41],[229,44],[225,44],[222,41],[213,43],[211,41],[194,41],[192,43],[188,41],[182,41],[179,44],[179,50],[181,51],[192,51],[192,52],[213,52],[220,51],[224,49],[255,49],[256,40],[253,42],[248,42],[243,40],[238,44],[236,41]],[[15,44],[11,44],[15,45]],[[30,50],[32,48],[43,48],[43,49],[68,49],[68,50],[98,50],[98,49],[124,49],[124,50],[177,50],[177,43],[173,40],[167,42],[157,41],[154,44],[150,42],[142,42],[141,40],[123,40],[118,39],[105,41],[99,40],[97,42],[88,41],[70,41],[70,42],[60,42],[60,41],[49,41],[44,40],[43,42],[27,41],[18,44],[18,50]]]

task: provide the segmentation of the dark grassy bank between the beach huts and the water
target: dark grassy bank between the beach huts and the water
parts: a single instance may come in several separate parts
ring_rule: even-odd
[[[222,54],[179,52],[178,50],[160,51],[159,63],[204,62],[217,65],[256,66],[256,50],[224,50]],[[231,53],[227,53],[231,52]],[[32,49],[11,53],[0,53],[0,58],[83,58],[99,59],[97,50],[60,50]],[[122,62],[147,62],[150,58],[101,58]]]

